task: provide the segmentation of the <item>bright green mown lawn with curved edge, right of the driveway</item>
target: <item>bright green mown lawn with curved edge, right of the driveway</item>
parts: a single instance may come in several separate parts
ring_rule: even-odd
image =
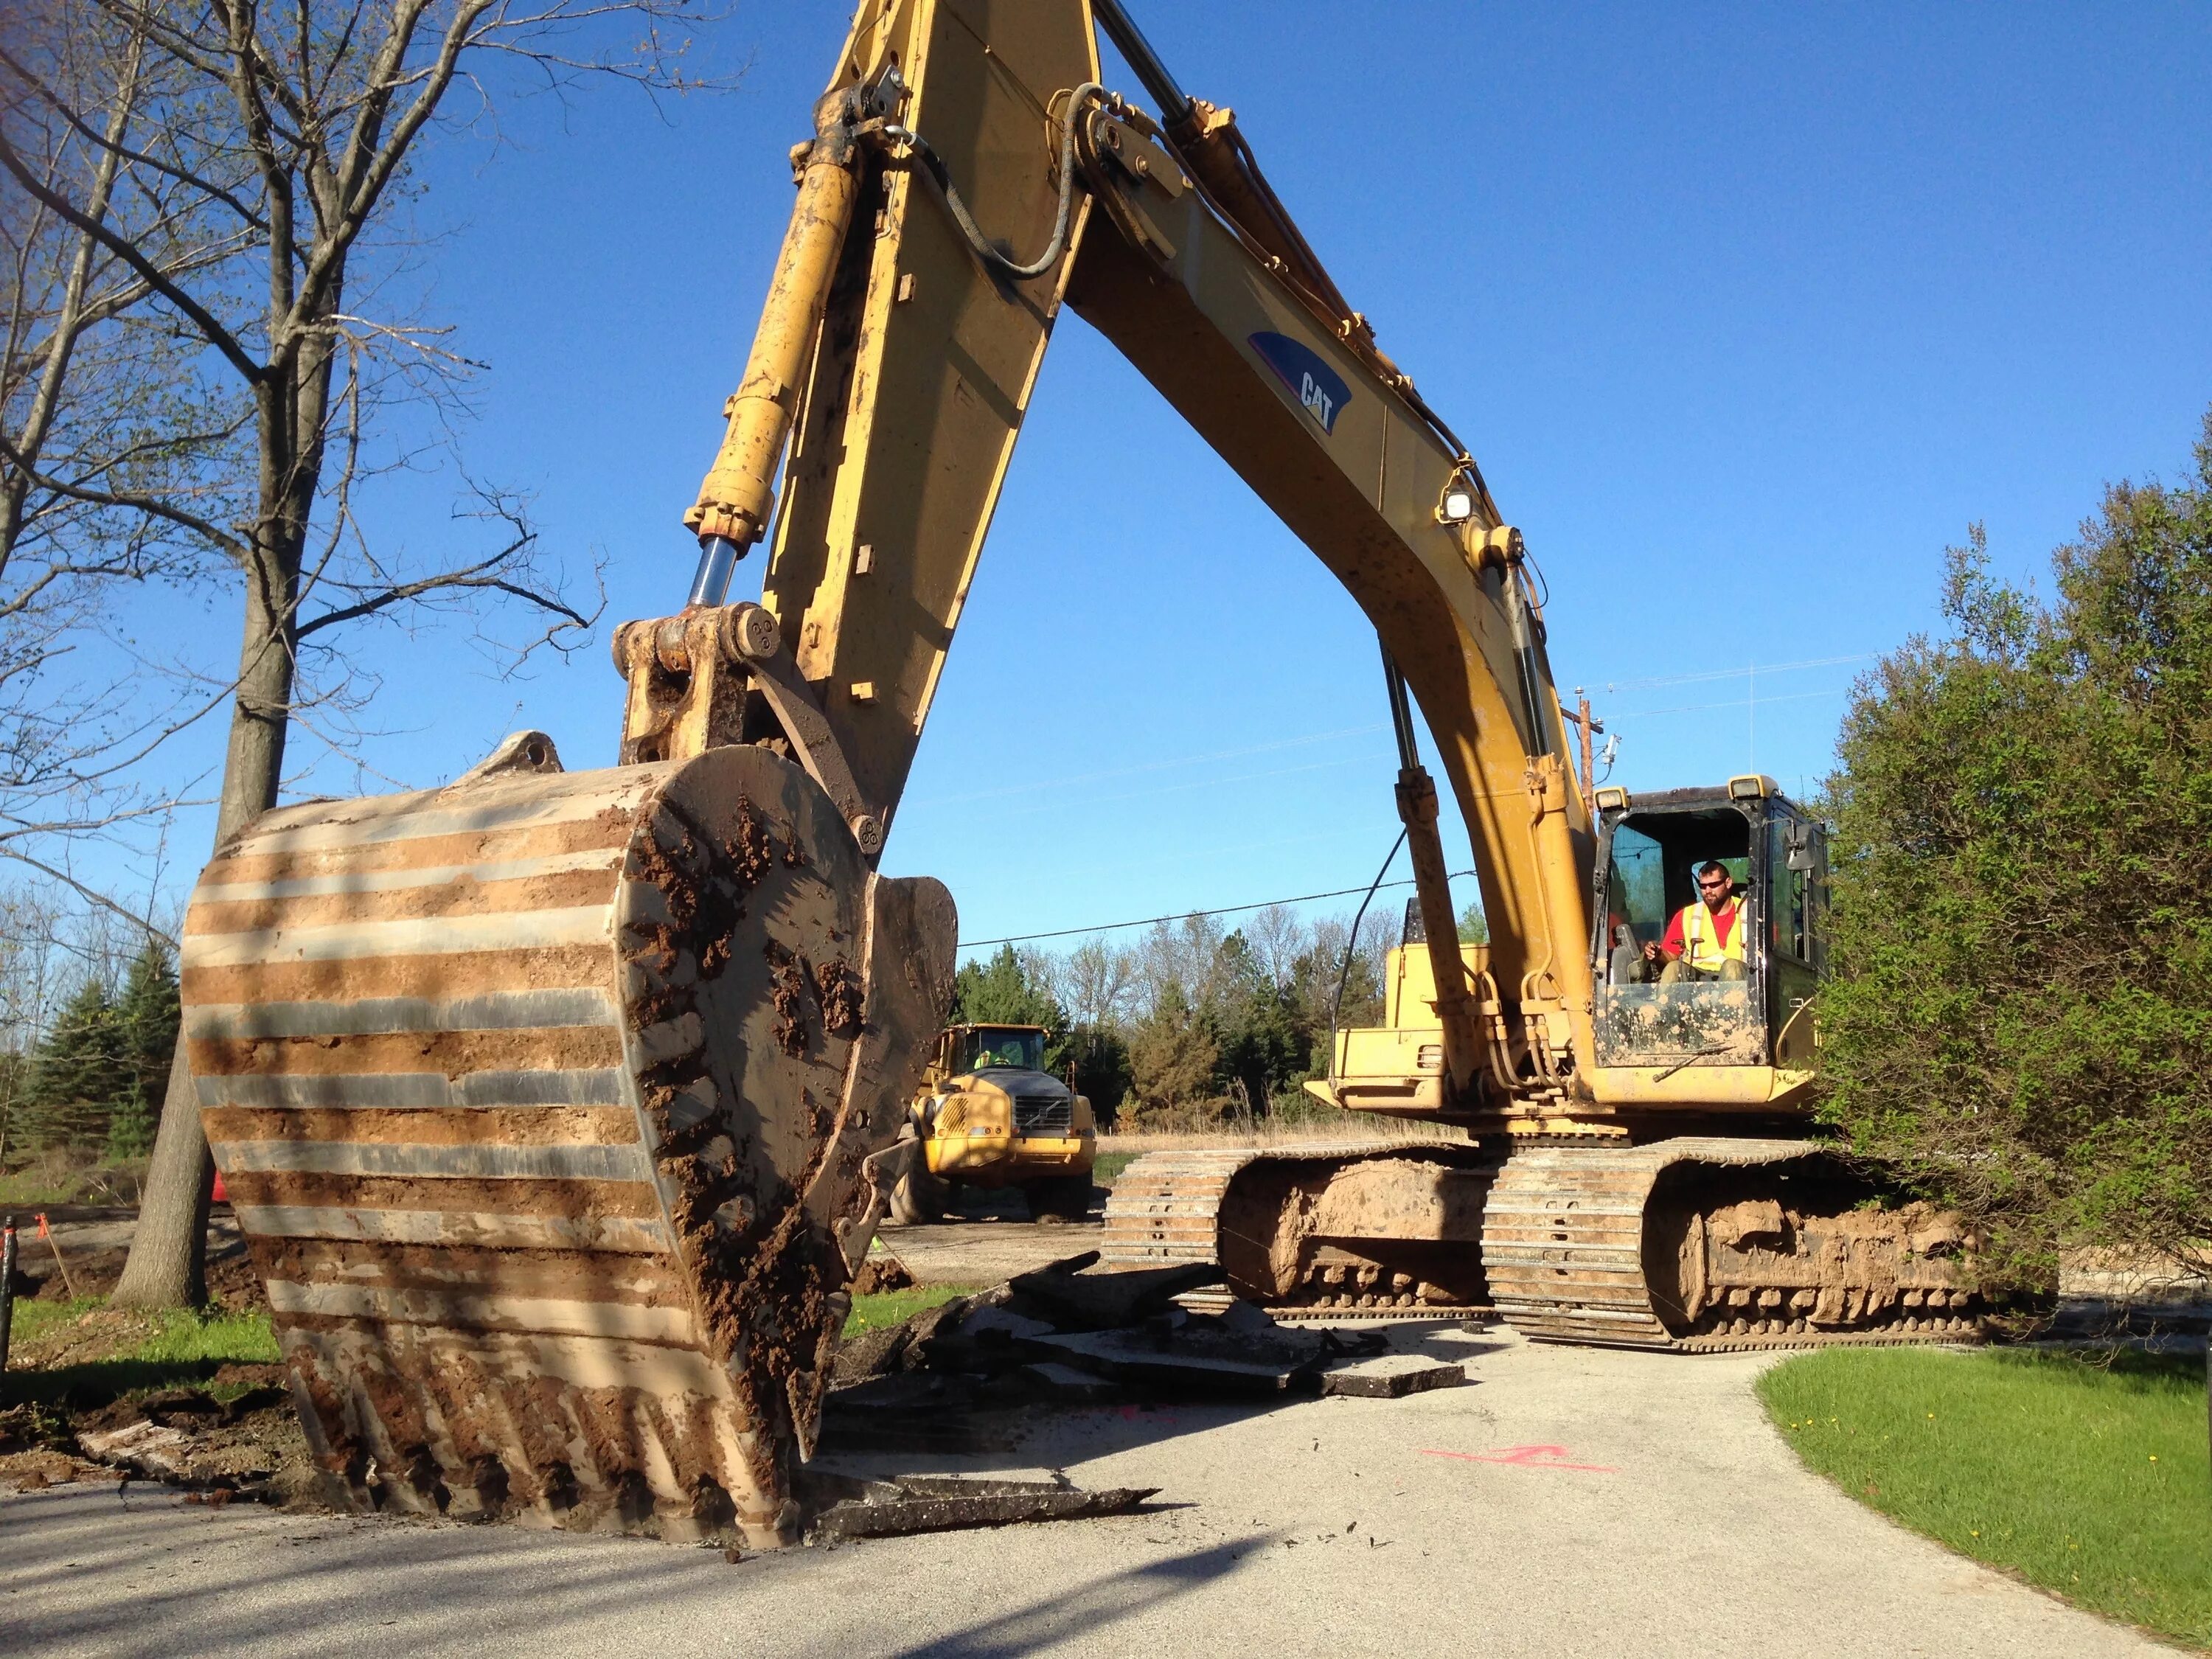
[[[1759,1396],[1812,1469],[1891,1520],[2212,1646],[2203,1360],[1827,1349]]]

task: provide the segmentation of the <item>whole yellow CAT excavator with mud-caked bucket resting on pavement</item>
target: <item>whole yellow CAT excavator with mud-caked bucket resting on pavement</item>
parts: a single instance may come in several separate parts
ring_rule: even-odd
[[[1759,776],[1584,799],[1522,533],[1232,113],[1119,0],[863,0],[812,115],[688,604],[613,639],[619,763],[522,732],[440,790],[270,812],[192,894],[201,1117],[330,1480],[796,1537],[951,991],[949,894],[876,863],[1064,307],[1374,622],[1425,933],[1455,938],[1416,703],[1491,927],[1402,947],[1323,1084],[1464,1144],[1144,1159],[1113,1252],[1646,1347],[1978,1318],[1958,1228],[1803,1137],[1820,827]],[[1750,880],[1747,975],[1615,971],[1703,858]]]

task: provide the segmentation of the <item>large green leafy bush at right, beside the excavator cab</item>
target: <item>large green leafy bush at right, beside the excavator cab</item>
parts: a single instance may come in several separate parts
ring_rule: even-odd
[[[2212,416],[2112,484],[2053,595],[1953,549],[1949,637],[1845,717],[1825,1110],[1982,1223],[2203,1270],[2212,1239]]]

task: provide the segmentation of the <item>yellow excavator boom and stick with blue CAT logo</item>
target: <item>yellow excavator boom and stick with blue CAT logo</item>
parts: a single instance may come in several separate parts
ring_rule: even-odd
[[[1093,15],[1161,119],[1097,84]],[[692,597],[712,606],[774,518],[761,606],[790,646],[799,717],[823,730],[810,770],[825,785],[849,776],[863,847],[896,814],[1068,305],[1374,622],[1422,916],[1429,938],[1451,940],[1436,790],[1398,677],[1429,723],[1491,927],[1473,973],[1436,953],[1449,1088],[1429,1104],[1491,1117],[1586,1099],[1590,821],[1520,533],[1376,349],[1234,117],[1186,97],[1115,0],[874,0],[816,124],[728,434],[686,522],[706,546]],[[799,701],[772,684],[759,701],[779,699]],[[774,714],[757,706],[734,734],[783,730],[807,752]]]

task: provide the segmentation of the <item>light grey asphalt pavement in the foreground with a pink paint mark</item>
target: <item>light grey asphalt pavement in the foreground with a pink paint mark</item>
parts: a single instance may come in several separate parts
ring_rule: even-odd
[[[754,1555],[0,1498],[0,1650],[38,1655],[2154,1655],[1807,1473],[1759,1356],[1409,1329],[1471,1387],[1068,1411],[1002,1455],[1150,1513]],[[852,1467],[863,1467],[854,1462]],[[874,1469],[887,1469],[874,1460]]]

